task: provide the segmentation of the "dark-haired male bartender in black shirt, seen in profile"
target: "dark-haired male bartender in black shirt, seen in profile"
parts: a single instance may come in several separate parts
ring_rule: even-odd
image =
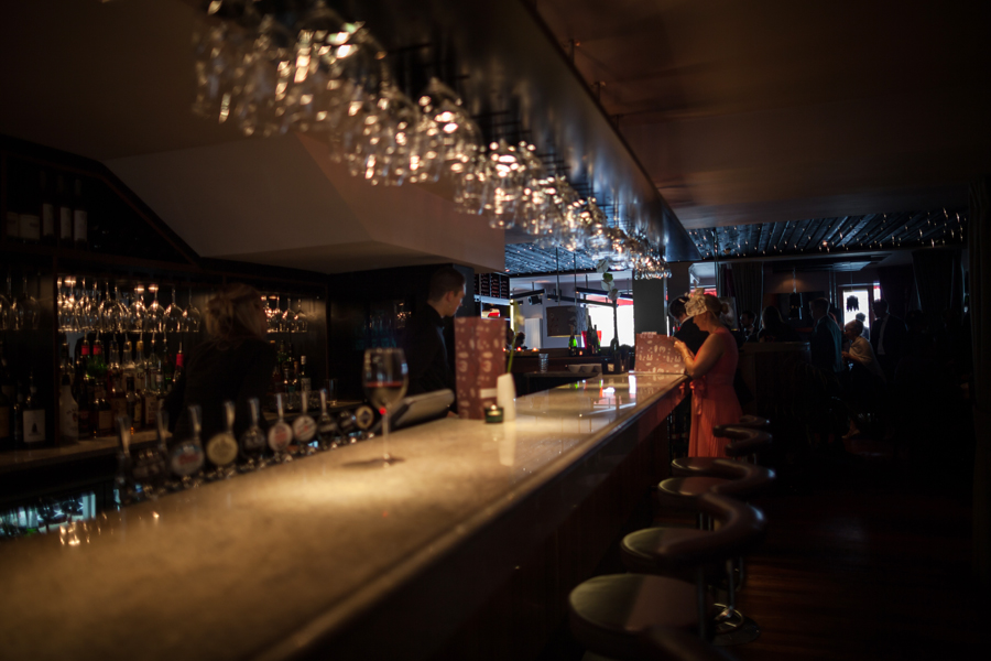
[[[454,316],[465,297],[465,277],[445,267],[431,277],[426,306],[414,315],[406,332],[410,394],[455,388],[454,370],[444,342],[444,318]]]

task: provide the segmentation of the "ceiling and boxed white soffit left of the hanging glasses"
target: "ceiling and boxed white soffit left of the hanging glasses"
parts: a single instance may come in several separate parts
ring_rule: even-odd
[[[204,257],[503,270],[502,231],[428,188],[371,186],[313,139],[246,139],[195,117],[195,19],[179,0],[4,3],[0,132],[102,161]]]

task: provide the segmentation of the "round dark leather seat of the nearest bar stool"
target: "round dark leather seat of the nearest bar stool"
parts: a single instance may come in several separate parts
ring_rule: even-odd
[[[653,627],[698,627],[696,586],[645,574],[589,578],[568,597],[571,632],[587,649],[613,659],[642,659],[639,635]],[[711,599],[706,604],[712,608]]]

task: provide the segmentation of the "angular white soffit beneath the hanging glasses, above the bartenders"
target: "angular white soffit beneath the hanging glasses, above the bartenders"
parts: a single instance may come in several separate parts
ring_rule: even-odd
[[[453,261],[503,269],[502,231],[417,186],[371,186],[290,134],[107,166],[204,257],[338,273]]]

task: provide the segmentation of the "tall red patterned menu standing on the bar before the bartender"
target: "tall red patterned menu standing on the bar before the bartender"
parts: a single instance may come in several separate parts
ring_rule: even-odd
[[[478,317],[455,318],[455,376],[458,415],[483,420],[496,403],[497,379],[505,371],[505,322]]]

